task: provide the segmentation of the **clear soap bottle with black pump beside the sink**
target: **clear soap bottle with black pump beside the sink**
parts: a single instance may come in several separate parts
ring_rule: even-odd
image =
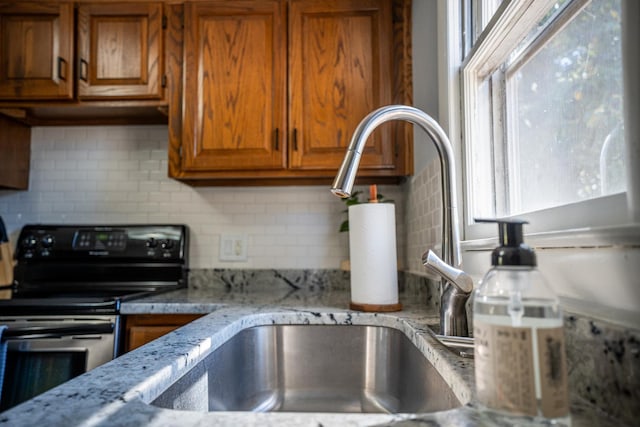
[[[562,311],[523,242],[526,222],[476,222],[497,223],[500,242],[473,303],[480,407],[524,424],[570,425]]]

